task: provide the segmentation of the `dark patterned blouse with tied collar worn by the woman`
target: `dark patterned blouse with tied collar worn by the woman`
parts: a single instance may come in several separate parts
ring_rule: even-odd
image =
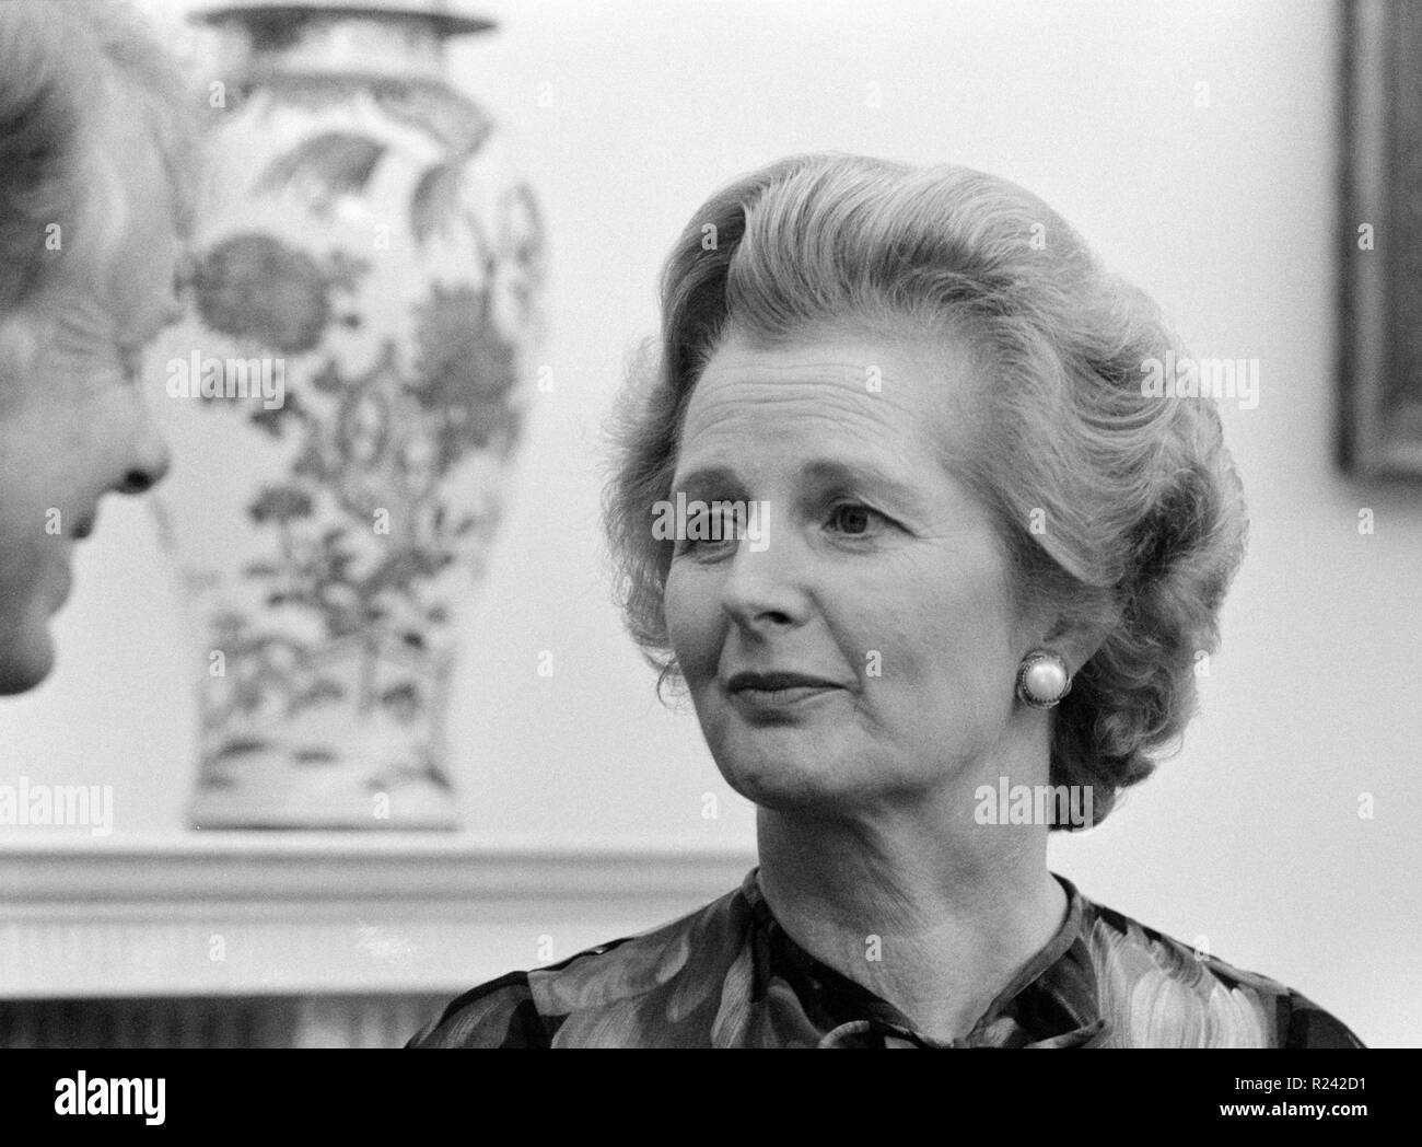
[[[968,1035],[930,1039],[791,939],[758,872],[651,932],[475,988],[408,1046],[1362,1047],[1283,983],[1197,955],[1062,877],[1057,935]]]

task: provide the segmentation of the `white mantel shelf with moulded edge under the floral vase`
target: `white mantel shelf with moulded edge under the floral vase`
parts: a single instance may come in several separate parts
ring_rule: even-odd
[[[0,996],[456,992],[646,931],[754,854],[425,832],[0,837]]]

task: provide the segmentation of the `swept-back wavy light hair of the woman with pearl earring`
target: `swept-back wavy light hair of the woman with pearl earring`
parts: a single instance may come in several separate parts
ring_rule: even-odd
[[[732,327],[774,346],[826,324],[907,324],[977,352],[985,417],[951,468],[993,512],[1017,603],[1106,633],[1071,666],[1051,744],[1051,783],[1092,786],[1099,823],[1194,714],[1196,662],[1219,645],[1244,554],[1243,491],[1213,401],[1142,393],[1148,363],[1186,357],[1158,307],[1041,199],[980,171],[792,157],[715,192],[681,232],[661,337],[610,423],[603,507],[658,694],[681,680],[663,609],[673,544],[653,536],[651,507],[674,497],[701,369]]]

